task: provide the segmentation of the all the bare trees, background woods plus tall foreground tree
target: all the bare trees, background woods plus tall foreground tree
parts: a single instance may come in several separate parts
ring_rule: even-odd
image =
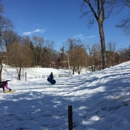
[[[84,4],[88,5],[90,11],[83,12],[83,16],[88,17],[91,13],[92,18],[89,19],[88,25],[93,24],[94,19],[98,23],[100,43],[83,43],[81,39],[68,38],[61,43],[60,51],[54,49],[53,41],[45,40],[43,37],[19,36],[14,31],[12,21],[3,16],[3,6],[0,4],[0,81],[2,63],[16,67],[20,80],[23,67],[71,68],[74,74],[75,71],[80,73],[82,68],[95,71],[130,60],[130,47],[116,50],[115,42],[105,43],[103,29],[103,22],[112,10],[117,5],[121,8],[130,7],[130,2],[128,0],[84,0]],[[117,27],[123,28],[129,35],[129,24],[128,16],[122,19],[121,23],[117,23]]]

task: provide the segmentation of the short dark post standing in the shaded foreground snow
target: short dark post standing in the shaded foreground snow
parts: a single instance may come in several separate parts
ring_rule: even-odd
[[[68,106],[68,130],[73,130],[72,106]]]

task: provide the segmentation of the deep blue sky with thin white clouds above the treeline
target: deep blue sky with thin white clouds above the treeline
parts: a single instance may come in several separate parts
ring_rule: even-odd
[[[97,23],[87,28],[87,18],[80,19],[81,0],[2,0],[4,16],[11,19],[20,36],[39,36],[54,41],[59,50],[68,38],[80,38],[84,43],[99,43]],[[130,36],[115,28],[126,15],[111,15],[105,20],[105,40],[116,42],[117,49],[130,45]]]

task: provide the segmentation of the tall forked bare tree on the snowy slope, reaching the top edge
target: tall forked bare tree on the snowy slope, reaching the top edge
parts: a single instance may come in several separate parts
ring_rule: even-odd
[[[101,41],[101,52],[102,52],[102,68],[106,68],[106,46],[105,46],[105,34],[104,34],[104,20],[108,18],[114,8],[114,4],[117,0],[84,0],[83,5],[89,7],[90,10],[87,10],[83,15],[87,15],[89,18],[89,26],[91,27],[94,24],[94,21],[97,21],[99,27],[99,35]],[[86,4],[85,4],[86,3]]]

